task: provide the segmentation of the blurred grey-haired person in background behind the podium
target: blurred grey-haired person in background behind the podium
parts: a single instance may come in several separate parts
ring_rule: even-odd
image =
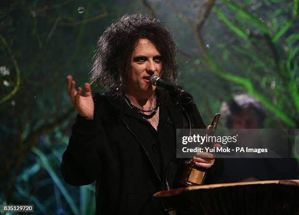
[[[231,102],[223,102],[220,113],[225,119],[226,127],[231,129],[262,129],[266,117],[262,105],[247,94],[236,95]],[[250,138],[258,141],[254,137]],[[282,141],[279,144],[276,137],[270,138],[273,138],[272,148],[277,155],[287,157],[285,144],[282,144]],[[298,163],[295,158],[226,158],[224,170],[218,182],[298,178]]]

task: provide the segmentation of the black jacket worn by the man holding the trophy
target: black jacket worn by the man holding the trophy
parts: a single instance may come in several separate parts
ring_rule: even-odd
[[[151,198],[163,188],[161,176],[143,145],[142,131],[135,123],[136,119],[143,119],[121,98],[96,94],[94,102],[94,119],[78,115],[72,126],[62,160],[65,181],[80,186],[97,180],[97,215],[164,214],[161,204]],[[164,105],[173,127],[184,128],[181,109],[170,99]],[[184,108],[192,127],[202,128],[204,124],[195,104]],[[221,166],[215,161],[206,183],[213,182],[220,174],[219,169]]]

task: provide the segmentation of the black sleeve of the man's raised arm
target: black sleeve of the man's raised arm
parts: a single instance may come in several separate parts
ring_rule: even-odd
[[[96,115],[92,120],[77,115],[61,163],[68,184],[86,185],[98,178],[102,170],[100,152],[104,141],[101,130]]]

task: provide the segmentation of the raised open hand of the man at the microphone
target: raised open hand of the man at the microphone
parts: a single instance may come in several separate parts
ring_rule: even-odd
[[[68,96],[70,97],[78,114],[82,117],[93,119],[94,103],[89,83],[84,84],[84,96],[81,96],[82,88],[79,87],[78,90],[76,90],[76,82],[73,80],[73,77],[67,76],[66,80]]]

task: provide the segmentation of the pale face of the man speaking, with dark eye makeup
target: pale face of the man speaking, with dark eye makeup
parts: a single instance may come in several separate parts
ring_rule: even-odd
[[[151,94],[155,86],[150,84],[149,78],[152,75],[161,76],[161,72],[160,52],[148,39],[139,39],[129,62],[126,93]]]

